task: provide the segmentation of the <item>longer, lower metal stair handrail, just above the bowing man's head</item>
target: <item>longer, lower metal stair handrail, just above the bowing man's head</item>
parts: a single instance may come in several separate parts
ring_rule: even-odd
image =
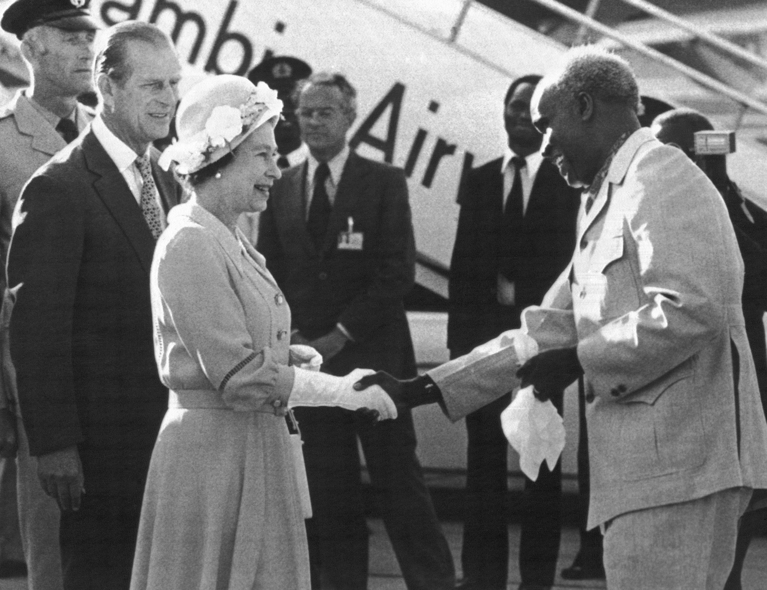
[[[767,104],[756,101],[752,97],[749,97],[747,94],[733,90],[715,78],[706,76],[706,74],[697,71],[695,68],[690,68],[690,66],[683,64],[681,61],[677,61],[674,58],[670,58],[668,55],[660,53],[660,51],[647,47],[647,45],[644,43],[634,41],[634,39],[628,37],[627,35],[623,35],[622,33],[615,31],[613,28],[610,28],[607,25],[603,25],[599,21],[595,21],[593,18],[588,18],[588,16],[582,15],[577,10],[565,6],[560,2],[557,2],[557,0],[532,0],[532,2],[545,6],[552,12],[556,12],[565,18],[568,18],[568,20],[578,22],[581,25],[586,25],[592,31],[597,31],[605,37],[619,41],[627,47],[634,49],[638,53],[647,56],[653,61],[665,64],[670,68],[680,72],[681,74],[684,74],[686,77],[696,81],[701,86],[709,88],[710,90],[718,92],[719,94],[723,94],[724,96],[730,98],[732,101],[735,101],[746,107],[750,107],[761,114],[767,114]]]

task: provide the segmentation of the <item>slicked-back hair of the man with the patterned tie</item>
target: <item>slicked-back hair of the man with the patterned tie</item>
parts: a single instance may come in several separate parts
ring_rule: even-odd
[[[127,47],[130,41],[142,41],[158,48],[166,46],[174,49],[170,36],[148,22],[123,21],[107,28],[102,35],[94,61],[94,78],[98,74],[107,74],[120,86],[125,84],[133,73],[127,63]]]

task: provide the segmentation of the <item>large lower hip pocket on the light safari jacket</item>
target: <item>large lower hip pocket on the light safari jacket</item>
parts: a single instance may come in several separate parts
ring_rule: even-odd
[[[694,469],[706,459],[695,359],[617,402],[615,460],[624,481]]]

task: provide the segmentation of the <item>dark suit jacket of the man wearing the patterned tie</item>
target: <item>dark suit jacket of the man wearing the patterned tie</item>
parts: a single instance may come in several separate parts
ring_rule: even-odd
[[[154,178],[170,209],[180,188],[158,155]],[[148,466],[167,407],[152,341],[154,245],[92,130],[22,191],[8,256],[10,338],[32,455],[77,444],[86,478],[89,453]]]

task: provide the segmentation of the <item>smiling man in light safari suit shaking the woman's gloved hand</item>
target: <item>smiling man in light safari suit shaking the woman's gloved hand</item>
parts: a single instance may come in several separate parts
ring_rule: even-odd
[[[767,424],[740,305],[743,263],[705,174],[637,120],[634,74],[576,48],[538,85],[543,153],[586,186],[571,264],[523,312],[540,352],[518,375],[548,399],[584,374],[588,528],[611,590],[722,588],[738,519],[767,486]],[[512,348],[486,346],[410,382],[406,406],[453,420],[509,390]]]

